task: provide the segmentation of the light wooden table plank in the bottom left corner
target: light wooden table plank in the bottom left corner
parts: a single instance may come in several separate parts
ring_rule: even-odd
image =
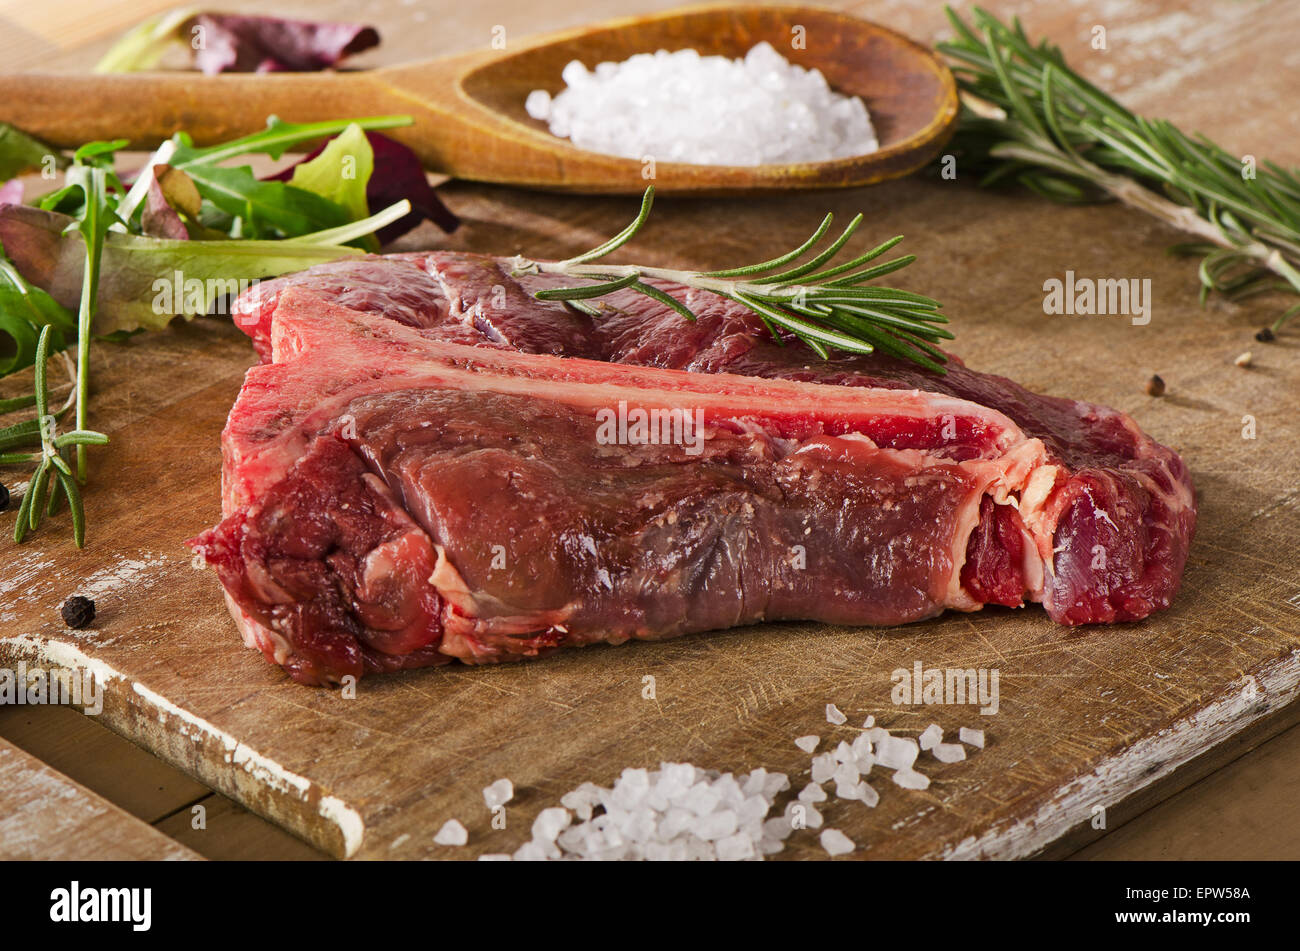
[[[198,852],[0,739],[0,860],[199,861]]]

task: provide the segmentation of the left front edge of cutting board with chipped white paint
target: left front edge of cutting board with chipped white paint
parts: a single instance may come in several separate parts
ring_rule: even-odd
[[[114,733],[329,855],[346,859],[361,847],[360,812],[78,644],[32,635],[4,638],[0,660],[90,674],[103,692],[99,718]]]

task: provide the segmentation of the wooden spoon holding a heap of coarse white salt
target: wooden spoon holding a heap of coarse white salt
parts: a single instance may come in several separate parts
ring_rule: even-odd
[[[802,29],[801,29],[802,27]],[[802,38],[802,43],[792,42]],[[744,56],[767,40],[783,56],[820,69],[841,92],[862,96],[880,149],[798,165],[659,162],[660,192],[727,194],[832,188],[897,178],[933,158],[958,110],[952,73],[931,49],[864,19],[809,6],[694,6],[478,49],[428,62],[343,73],[200,75],[0,75],[0,120],[52,146],[130,139],[152,148],[178,129],[211,144],[261,129],[268,116],[292,122],[404,113],[415,125],[385,133],[424,164],[455,178],[586,194],[640,194],[641,161],[598,155],[529,118],[534,88],[563,88],[571,60],[589,68],[633,53],[693,47]],[[802,47],[802,48],[801,48]]]

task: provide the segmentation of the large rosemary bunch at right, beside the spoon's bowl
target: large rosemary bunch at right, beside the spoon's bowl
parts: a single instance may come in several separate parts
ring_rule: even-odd
[[[1135,116],[1075,73],[1060,48],[1034,44],[976,8],[972,25],[950,8],[966,109],[954,148],[982,184],[1015,179],[1057,201],[1112,197],[1192,234],[1170,248],[1199,255],[1201,301],[1280,290],[1300,295],[1300,174],[1251,166],[1205,136]],[[1253,177],[1251,174],[1253,171]],[[1278,330],[1300,304],[1282,313]]]

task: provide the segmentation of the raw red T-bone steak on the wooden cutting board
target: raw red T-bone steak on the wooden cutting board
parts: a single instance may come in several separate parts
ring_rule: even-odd
[[[433,252],[238,301],[265,362],[194,544],[295,679],[984,604],[1131,621],[1178,590],[1187,468],[1123,413],[956,359],[820,361],[672,285],[697,322],[546,286]]]

